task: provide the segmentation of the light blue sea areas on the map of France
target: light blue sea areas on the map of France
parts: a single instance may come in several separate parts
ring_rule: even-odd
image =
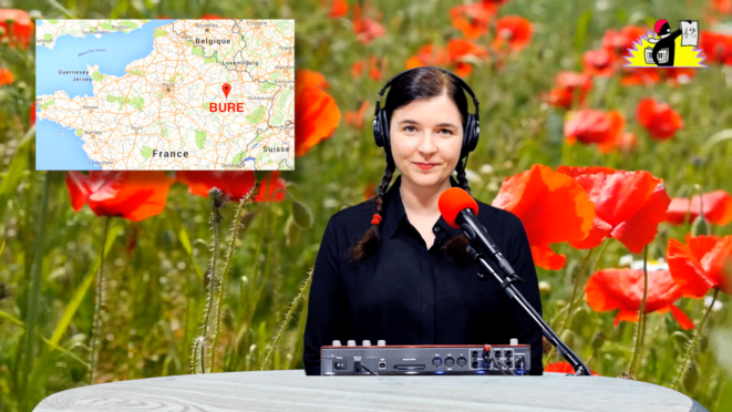
[[[80,74],[59,74],[59,70],[85,71],[86,64],[99,65],[100,73],[122,76],[131,62],[147,56],[153,51],[156,28],[175,20],[151,20],[130,33],[109,33],[100,39],[94,35],[74,38],[62,35],[53,50],[35,47],[35,95],[53,94],[63,90],[69,97],[92,96],[92,82],[74,82]],[[40,24],[40,22],[39,22]],[[96,52],[104,49],[105,52]],[[79,55],[94,50],[92,53]],[[91,125],[90,125],[91,128]],[[63,133],[63,136],[61,135]],[[99,169],[81,148],[83,142],[73,130],[50,121],[35,124],[35,169],[38,171],[91,171]]]

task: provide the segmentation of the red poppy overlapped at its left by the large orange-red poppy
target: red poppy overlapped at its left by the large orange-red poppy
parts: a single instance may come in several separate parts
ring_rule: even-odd
[[[646,171],[585,169],[587,173],[579,174],[570,166],[557,171],[575,176],[595,204],[592,230],[571,241],[573,247],[588,249],[614,237],[638,254],[653,240],[671,203],[662,179]]]

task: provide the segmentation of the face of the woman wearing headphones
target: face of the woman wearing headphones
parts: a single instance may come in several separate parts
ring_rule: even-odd
[[[392,113],[390,141],[403,179],[417,186],[441,186],[460,161],[460,111],[444,94],[414,101]]]

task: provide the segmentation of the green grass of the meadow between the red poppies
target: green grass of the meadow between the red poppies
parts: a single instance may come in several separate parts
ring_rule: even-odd
[[[22,3],[22,6],[21,6]],[[550,166],[600,164],[615,168],[646,169],[664,179],[671,196],[688,196],[695,184],[704,192],[732,193],[732,150],[729,141],[711,150],[704,143],[732,125],[730,68],[711,65],[678,87],[623,87],[616,78],[596,85],[588,96],[594,109],[619,110],[627,130],[637,134],[639,150],[621,155],[599,154],[595,147],[564,144],[564,113],[542,104],[538,95],[553,86],[559,70],[581,70],[581,53],[598,48],[607,29],[699,19],[703,2],[512,0],[502,14],[519,14],[534,23],[532,44],[507,60],[503,68],[491,62],[476,66],[466,79],[482,109],[482,137],[467,168],[480,181],[471,182],[473,195],[489,203],[504,177],[540,163]],[[369,183],[378,183],[383,152],[375,147],[369,121],[362,130],[346,125],[344,112],[360,101],[372,103],[382,82],[354,81],[350,65],[367,56],[385,56],[385,78],[404,69],[405,60],[426,42],[443,42],[458,34],[450,24],[449,2],[425,0],[373,1],[385,17],[388,35],[360,44],[348,20],[328,19],[318,1],[209,2],[209,1],[16,1],[16,8],[41,10],[44,18],[153,19],[196,18],[218,13],[229,18],[296,19],[297,65],[316,70],[331,84],[343,119],[334,134],[297,158],[297,171],[282,173],[291,182],[290,194],[312,212],[312,226],[291,223],[292,199],[252,204],[245,210],[221,305],[223,321],[215,371],[301,368],[302,331],[308,285],[328,218],[340,207],[363,200]],[[663,10],[664,16],[657,16]],[[729,20],[729,18],[728,18]],[[30,411],[44,396],[89,379],[90,333],[94,316],[93,277],[100,266],[105,219],[87,207],[74,213],[69,203],[64,173],[35,172],[33,130],[28,110],[34,99],[34,50],[0,50],[2,65],[13,70],[16,82],[0,87],[0,282],[10,296],[0,300],[0,411]],[[682,115],[684,127],[668,142],[651,141],[635,120],[637,102],[652,96],[668,101]],[[480,173],[483,165],[491,173]],[[349,176],[344,181],[342,176]],[[45,189],[48,178],[48,190]],[[48,196],[48,208],[44,207]],[[223,210],[218,266],[223,267],[228,231],[236,204]],[[296,206],[299,209],[300,206]],[[210,205],[175,184],[165,210],[141,223],[112,219],[104,272],[107,310],[99,334],[97,382],[189,373],[192,346],[200,334],[206,303],[206,267],[212,257]],[[289,223],[288,223],[289,220]],[[730,235],[732,225],[713,227]],[[651,259],[663,256],[669,238],[682,239],[689,227],[660,225],[649,245]],[[42,243],[40,241],[42,240]],[[568,256],[563,270],[539,269],[539,280],[551,290],[543,295],[545,319],[559,328],[559,310],[573,291],[573,271],[586,251],[568,245],[555,248]],[[617,240],[596,251],[589,267],[617,267],[628,254]],[[636,256],[637,259],[640,255]],[[587,274],[582,276],[582,285]],[[581,285],[580,285],[581,286]],[[730,299],[721,295],[723,310],[712,312],[692,358],[690,373],[680,390],[710,411],[724,411],[732,402],[729,347],[720,344],[732,330]],[[699,323],[701,300],[681,299],[679,306]],[[633,347],[633,325],[612,326],[615,313],[594,312],[580,300],[563,339],[597,372],[617,377],[628,369]],[[285,329],[280,328],[288,319]],[[604,344],[598,343],[604,336]],[[726,333],[726,334],[725,334]],[[682,331],[670,315],[649,313],[646,344],[638,379],[670,385],[692,331]],[[267,353],[277,344],[267,363]],[[558,360],[558,358],[557,358]],[[28,382],[24,384],[24,382]]]

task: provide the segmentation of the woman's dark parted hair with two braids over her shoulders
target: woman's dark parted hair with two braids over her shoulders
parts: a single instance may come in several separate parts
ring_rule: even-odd
[[[457,80],[449,73],[431,68],[411,70],[391,83],[384,103],[386,119],[391,123],[392,114],[396,109],[405,106],[414,101],[426,100],[442,94],[446,94],[455,105],[457,105],[457,110],[462,117],[461,121],[463,122],[463,133],[466,133],[465,124],[467,122],[468,112],[467,99],[465,97],[463,87]],[[386,130],[389,130],[389,124],[385,125]],[[394,158],[391,155],[391,147],[384,148],[386,152],[386,167],[384,168],[384,174],[381,178],[381,185],[379,185],[377,189],[377,195],[369,199],[369,202],[373,203],[374,213],[381,216],[384,215],[383,196],[386,193],[386,188],[389,187],[394,169],[396,168]],[[458,186],[467,193],[471,193],[471,188],[467,185],[467,178],[465,177],[465,163],[463,159],[457,161],[455,171],[457,172]],[[379,228],[380,223],[373,223],[369,230],[363,234],[361,239],[351,247],[348,256],[351,264],[358,265],[377,250],[381,243]],[[442,249],[445,250],[445,255],[450,261],[464,266],[470,261],[470,255],[466,251],[467,245],[467,237],[461,234],[450,239]]]

